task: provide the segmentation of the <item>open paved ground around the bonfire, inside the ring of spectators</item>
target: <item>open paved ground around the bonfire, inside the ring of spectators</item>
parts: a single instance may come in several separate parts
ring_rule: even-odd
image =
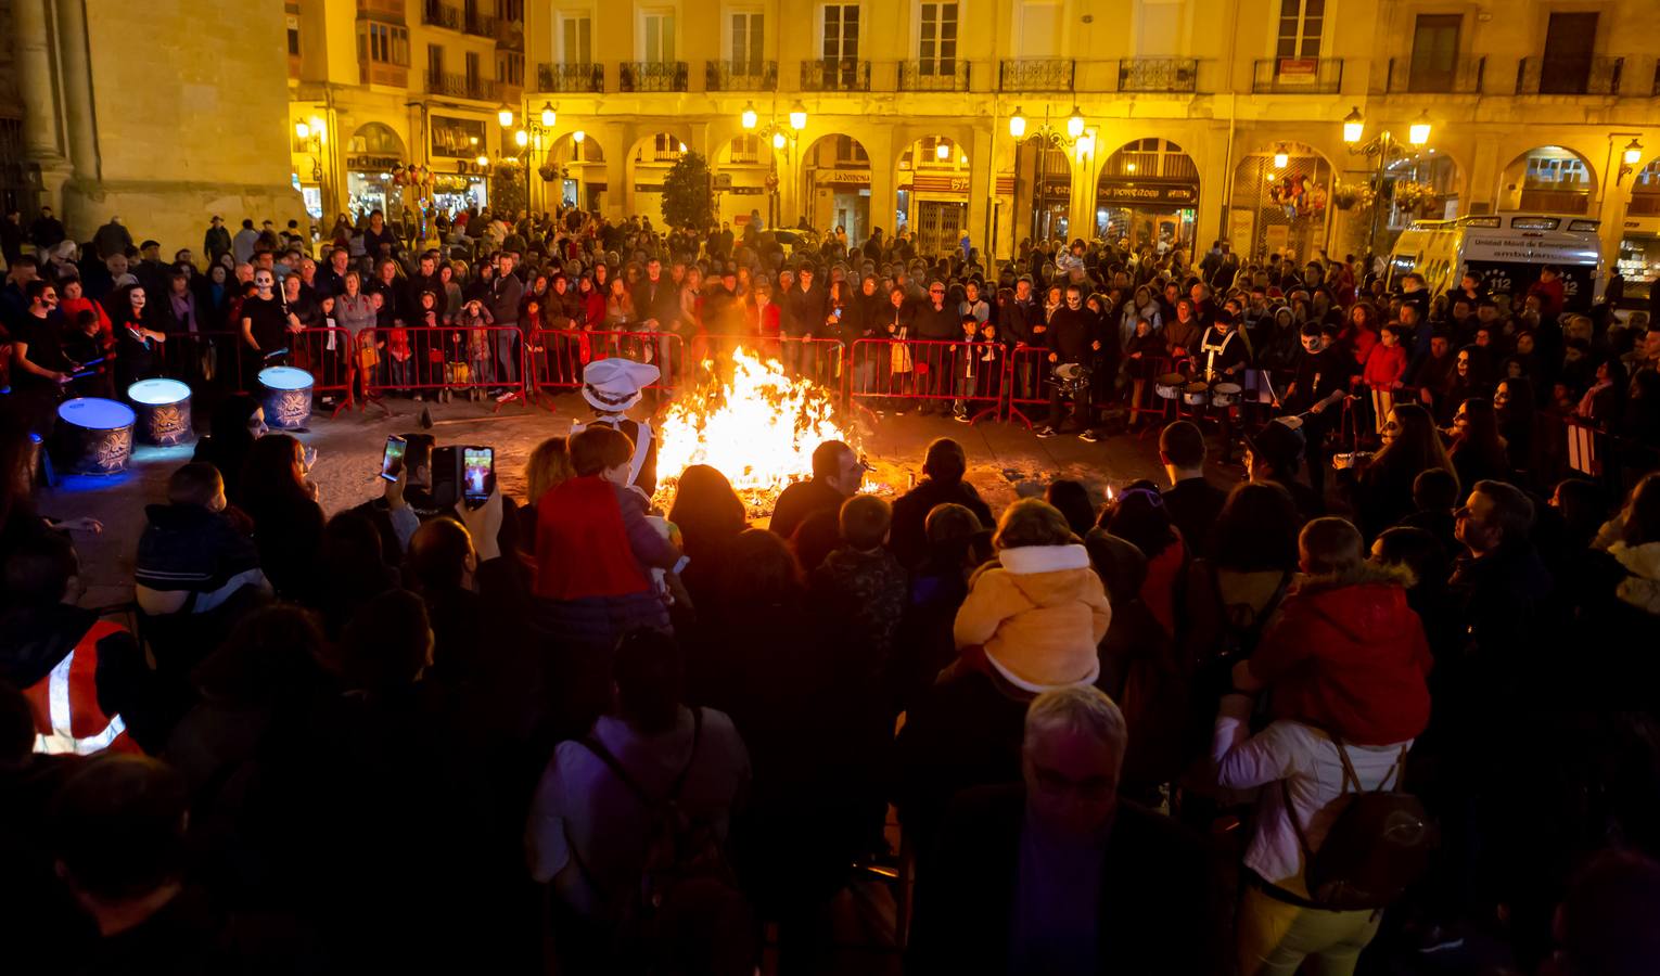
[[[418,430],[422,407],[435,422],[432,433],[440,443],[476,443],[496,450],[501,490],[523,496],[525,458],[546,437],[563,435],[573,418],[589,417],[579,397],[566,395],[548,407],[506,405],[491,413],[490,405],[452,402],[417,403],[385,400],[390,410],[370,407],[342,412],[330,420],[319,413],[297,437],[317,448],[312,476],[322,491],[329,513],[350,508],[380,491],[380,451],[390,433]],[[206,417],[198,418],[198,428]],[[885,485],[893,496],[903,493],[911,478],[921,478],[921,458],[928,442],[951,437],[963,443],[969,456],[968,480],[991,508],[1001,510],[1019,495],[1041,493],[1052,478],[1076,478],[1089,485],[1099,500],[1106,486],[1119,488],[1134,478],[1162,478],[1155,437],[1119,435],[1101,443],[1084,443],[1064,435],[1038,440],[1021,423],[986,422],[974,427],[946,417],[862,417],[855,422],[857,440],[875,465],[870,481]],[[111,606],[131,598],[133,553],[144,528],[144,505],[161,501],[166,478],[189,460],[194,445],[173,448],[138,447],[129,468],[116,476],[68,476],[42,493],[42,511],[58,518],[95,516],[105,523],[103,534],[78,534],[76,546],[88,579],[88,606]]]

